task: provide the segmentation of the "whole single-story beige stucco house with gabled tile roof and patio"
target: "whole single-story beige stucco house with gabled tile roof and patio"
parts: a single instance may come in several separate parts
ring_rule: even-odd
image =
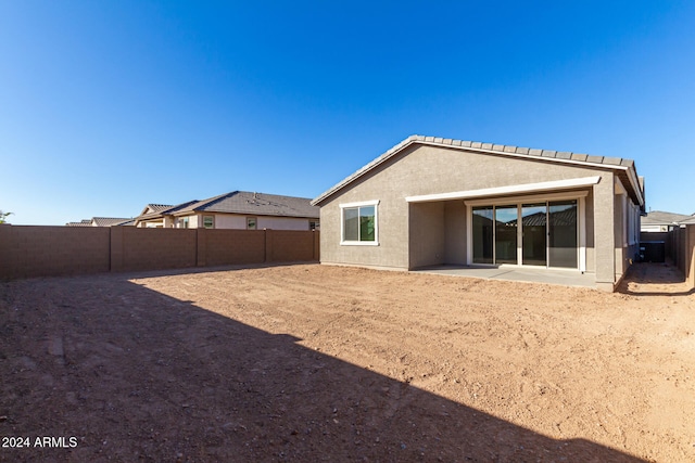
[[[312,204],[323,263],[569,269],[612,291],[644,181],[630,159],[413,136]]]

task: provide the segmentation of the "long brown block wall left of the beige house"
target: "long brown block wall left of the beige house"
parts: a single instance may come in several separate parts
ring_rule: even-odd
[[[319,232],[0,224],[0,279],[318,261]]]

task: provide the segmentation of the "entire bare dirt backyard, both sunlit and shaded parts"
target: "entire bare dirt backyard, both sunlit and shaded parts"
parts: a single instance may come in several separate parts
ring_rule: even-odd
[[[678,281],[300,265],[0,283],[0,461],[695,461]]]

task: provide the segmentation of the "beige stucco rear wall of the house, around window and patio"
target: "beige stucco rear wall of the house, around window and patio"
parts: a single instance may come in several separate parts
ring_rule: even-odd
[[[321,261],[401,269],[447,260],[465,262],[465,206],[456,202],[408,205],[406,196],[593,176],[601,176],[601,181],[585,198],[586,270],[595,272],[597,281],[612,285],[616,239],[611,170],[429,145],[408,147],[321,204]],[[379,245],[341,245],[339,205],[363,201],[380,202]],[[462,241],[457,229],[463,231]]]

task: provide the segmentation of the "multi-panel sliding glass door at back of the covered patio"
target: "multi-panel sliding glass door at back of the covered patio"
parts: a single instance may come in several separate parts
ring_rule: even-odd
[[[578,268],[577,206],[569,200],[473,207],[472,262]]]

